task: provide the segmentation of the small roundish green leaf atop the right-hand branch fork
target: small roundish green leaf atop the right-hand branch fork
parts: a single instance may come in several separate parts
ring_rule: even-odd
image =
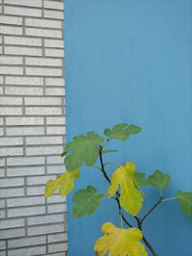
[[[154,174],[149,176],[148,180],[149,183],[156,189],[167,188],[169,187],[171,177],[168,174],[161,172],[160,170],[156,170]]]

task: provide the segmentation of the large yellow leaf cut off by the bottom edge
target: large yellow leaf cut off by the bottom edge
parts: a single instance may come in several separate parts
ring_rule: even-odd
[[[142,232],[138,228],[117,228],[111,222],[103,224],[102,231],[106,234],[98,239],[94,251],[98,256],[147,256],[143,243]]]

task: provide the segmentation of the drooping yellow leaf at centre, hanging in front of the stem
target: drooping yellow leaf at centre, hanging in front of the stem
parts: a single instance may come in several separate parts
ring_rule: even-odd
[[[117,192],[121,186],[120,205],[132,216],[136,216],[143,202],[142,193],[137,190],[137,180],[134,176],[135,165],[127,162],[126,166],[119,166],[112,174],[108,197]]]

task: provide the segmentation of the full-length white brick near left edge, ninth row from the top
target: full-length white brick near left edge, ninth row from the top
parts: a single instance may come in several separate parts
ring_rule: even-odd
[[[17,57],[16,57],[17,58]],[[6,85],[11,86],[43,86],[43,79],[41,77],[6,77]]]

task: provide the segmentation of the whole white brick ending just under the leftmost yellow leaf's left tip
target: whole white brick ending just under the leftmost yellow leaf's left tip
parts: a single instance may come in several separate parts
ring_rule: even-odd
[[[7,199],[8,207],[33,206],[38,204],[42,205],[44,203],[45,203],[44,196],[32,196],[32,197]]]

